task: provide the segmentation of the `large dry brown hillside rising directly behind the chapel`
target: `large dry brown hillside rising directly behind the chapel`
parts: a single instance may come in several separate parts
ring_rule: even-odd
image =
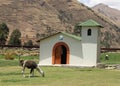
[[[102,47],[119,47],[118,26],[77,0],[0,0],[0,22],[7,23],[10,32],[19,29],[23,42],[36,41],[38,36],[57,31],[73,33],[77,23],[88,19],[104,26],[101,29]]]

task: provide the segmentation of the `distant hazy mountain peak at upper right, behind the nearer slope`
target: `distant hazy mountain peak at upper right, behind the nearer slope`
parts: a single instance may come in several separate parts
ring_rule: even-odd
[[[94,6],[93,9],[109,17],[120,27],[120,10],[110,8],[109,6],[102,3]]]

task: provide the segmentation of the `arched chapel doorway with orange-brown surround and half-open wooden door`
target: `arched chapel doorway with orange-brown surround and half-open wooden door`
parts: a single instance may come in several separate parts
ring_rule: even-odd
[[[69,47],[66,43],[56,43],[52,51],[52,64],[69,64],[69,54]]]

